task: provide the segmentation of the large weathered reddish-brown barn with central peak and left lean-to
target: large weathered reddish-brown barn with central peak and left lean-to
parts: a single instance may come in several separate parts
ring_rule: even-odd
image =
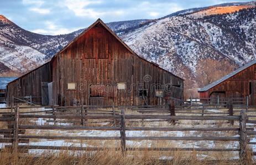
[[[44,65],[8,84],[8,98],[43,105],[163,105],[184,80],[139,57],[98,19]]]

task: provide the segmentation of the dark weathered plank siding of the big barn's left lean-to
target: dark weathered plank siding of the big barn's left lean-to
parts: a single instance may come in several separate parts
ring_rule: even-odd
[[[12,81],[7,86],[7,97],[11,101],[11,96],[25,97],[32,96],[34,102],[41,103],[41,82],[51,81],[51,66],[46,63],[41,67],[32,70]]]

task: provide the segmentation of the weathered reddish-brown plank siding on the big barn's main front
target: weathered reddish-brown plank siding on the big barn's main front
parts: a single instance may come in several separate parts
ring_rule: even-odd
[[[144,80],[145,75],[150,76],[150,81]],[[76,83],[77,89],[67,90],[67,83]],[[126,83],[126,90],[118,90],[117,83]],[[112,100],[115,105],[144,105],[139,86],[148,89],[147,103],[156,105],[154,84],[168,83],[181,85],[170,86],[169,95],[182,99],[182,79],[132,54],[101,24],[53,58],[55,104],[72,105],[74,99],[81,101],[81,98],[86,105],[93,100],[97,102],[97,98],[90,98],[90,85],[98,84],[106,86],[104,97],[98,98],[102,105],[112,105]]]

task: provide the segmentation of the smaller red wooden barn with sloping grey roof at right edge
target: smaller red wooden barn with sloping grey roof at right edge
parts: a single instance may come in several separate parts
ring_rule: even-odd
[[[220,80],[198,89],[200,98],[244,98],[249,97],[249,105],[256,105],[256,61],[224,76]]]

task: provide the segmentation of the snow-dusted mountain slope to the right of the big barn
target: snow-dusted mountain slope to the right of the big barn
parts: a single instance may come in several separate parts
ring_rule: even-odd
[[[202,59],[228,61],[235,68],[255,59],[255,15],[252,8],[205,19],[164,18],[121,38],[149,61],[196,82],[190,84],[196,87],[203,84],[198,78]]]

